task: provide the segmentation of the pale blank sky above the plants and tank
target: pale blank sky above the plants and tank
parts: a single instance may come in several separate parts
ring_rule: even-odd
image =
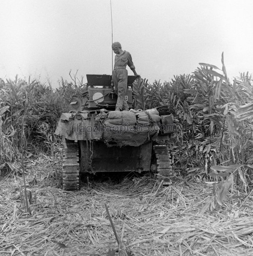
[[[150,82],[199,62],[253,73],[252,0],[112,0],[113,41]],[[0,78],[111,74],[110,0],[0,0]],[[113,54],[114,59],[114,54]],[[129,75],[132,75],[129,70]]]

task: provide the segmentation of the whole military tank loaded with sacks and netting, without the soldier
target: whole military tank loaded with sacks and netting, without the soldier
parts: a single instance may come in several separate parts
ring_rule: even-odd
[[[170,183],[172,166],[168,141],[175,132],[167,106],[135,110],[133,82],[128,76],[126,101],[130,111],[114,111],[117,95],[111,75],[86,75],[87,85],[70,100],[55,131],[62,137],[63,189],[78,190],[80,174],[153,171]]]

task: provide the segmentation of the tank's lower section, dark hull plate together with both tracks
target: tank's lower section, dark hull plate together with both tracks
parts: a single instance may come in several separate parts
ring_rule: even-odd
[[[156,173],[158,181],[170,184],[172,166],[166,144],[151,140],[141,146],[107,147],[101,141],[64,140],[63,189],[78,190],[80,174],[96,172]]]

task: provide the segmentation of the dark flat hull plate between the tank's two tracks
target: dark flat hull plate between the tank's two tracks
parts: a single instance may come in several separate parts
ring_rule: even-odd
[[[107,147],[102,141],[79,141],[80,172],[149,171],[152,141],[141,146]]]

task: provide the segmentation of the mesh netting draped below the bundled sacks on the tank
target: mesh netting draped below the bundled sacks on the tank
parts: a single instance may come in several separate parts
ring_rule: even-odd
[[[114,125],[110,126],[107,121],[104,123],[103,139],[108,147],[110,146],[140,146],[150,140],[159,131],[159,126],[140,125]]]

